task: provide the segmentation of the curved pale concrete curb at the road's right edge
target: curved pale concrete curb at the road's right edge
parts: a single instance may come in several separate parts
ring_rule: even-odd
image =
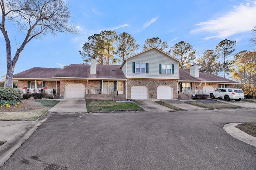
[[[224,125],[223,129],[232,137],[256,147],[256,137],[248,135],[247,133],[236,128],[238,124],[241,124],[241,123],[229,123]]]

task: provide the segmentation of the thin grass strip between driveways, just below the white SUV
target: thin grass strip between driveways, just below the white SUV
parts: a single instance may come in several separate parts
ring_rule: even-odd
[[[226,104],[216,100],[194,100],[186,102],[195,106],[205,107],[208,109],[226,109],[226,108],[238,108],[240,106]]]

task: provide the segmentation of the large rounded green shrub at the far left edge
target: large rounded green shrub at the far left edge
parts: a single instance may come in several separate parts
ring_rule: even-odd
[[[0,100],[21,100],[22,92],[17,88],[0,88]]]

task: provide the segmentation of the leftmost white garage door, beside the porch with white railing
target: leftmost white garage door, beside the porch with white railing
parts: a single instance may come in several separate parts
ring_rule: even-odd
[[[84,98],[84,84],[69,83],[65,87],[65,98]]]

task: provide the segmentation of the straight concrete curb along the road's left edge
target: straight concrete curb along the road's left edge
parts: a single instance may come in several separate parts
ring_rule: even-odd
[[[46,111],[46,113],[36,121],[30,123],[0,147],[0,167],[12,156],[15,150],[17,150],[44,121],[46,121],[50,115],[51,113]]]

